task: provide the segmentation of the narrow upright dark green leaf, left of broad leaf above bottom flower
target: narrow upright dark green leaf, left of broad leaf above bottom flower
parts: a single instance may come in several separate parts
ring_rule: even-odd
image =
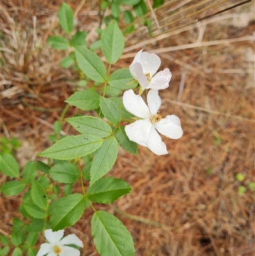
[[[32,181],[31,197],[34,204],[41,209],[46,209],[48,206],[48,199],[45,190],[41,184],[35,179]]]

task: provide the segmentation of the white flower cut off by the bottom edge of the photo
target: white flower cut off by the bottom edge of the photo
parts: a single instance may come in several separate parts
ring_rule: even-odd
[[[40,250],[36,256],[79,256],[80,251],[78,249],[66,245],[84,247],[82,241],[78,239],[75,234],[70,234],[62,239],[64,236],[64,230],[52,232],[52,229],[46,229],[44,236],[48,243],[41,244]]]

